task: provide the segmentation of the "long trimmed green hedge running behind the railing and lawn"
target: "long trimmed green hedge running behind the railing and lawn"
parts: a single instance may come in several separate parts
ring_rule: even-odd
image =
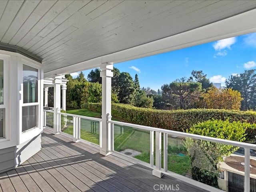
[[[82,107],[101,112],[100,103],[84,104]],[[156,110],[138,108],[128,104],[112,104],[112,116],[123,122],[175,131],[185,131],[198,122],[211,119],[256,123],[256,112],[254,111],[224,109]],[[252,130],[246,130],[246,133],[250,134],[250,138],[253,139],[256,135],[256,127]]]

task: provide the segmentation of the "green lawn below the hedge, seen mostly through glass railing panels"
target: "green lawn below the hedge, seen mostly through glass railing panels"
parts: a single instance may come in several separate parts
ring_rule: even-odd
[[[88,109],[68,109],[67,113],[101,118],[98,112],[92,112]],[[71,116],[70,116],[71,117]],[[67,117],[70,120],[70,117]],[[112,120],[117,120],[112,118]],[[118,120],[117,120],[118,121]],[[91,120],[81,119],[81,138],[95,144],[99,144],[99,124]],[[68,123],[64,133],[73,135],[73,124]],[[162,139],[163,141],[163,139]],[[186,148],[182,144],[182,139],[168,136],[168,170],[177,174],[190,174],[190,158],[186,155]],[[150,163],[150,132],[143,131],[128,126],[114,126],[114,150],[122,151],[132,149],[141,152],[135,156],[139,160]],[[163,152],[162,152],[163,154]],[[184,154],[184,155],[183,155]],[[163,155],[162,155],[163,166]]]

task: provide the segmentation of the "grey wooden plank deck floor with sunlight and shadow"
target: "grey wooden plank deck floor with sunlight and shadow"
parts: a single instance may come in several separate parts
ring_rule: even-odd
[[[98,152],[94,145],[74,143],[45,129],[42,150],[0,174],[0,192],[154,192],[155,184],[178,184],[179,192],[206,192],[170,176],[152,176],[150,168],[125,157]]]

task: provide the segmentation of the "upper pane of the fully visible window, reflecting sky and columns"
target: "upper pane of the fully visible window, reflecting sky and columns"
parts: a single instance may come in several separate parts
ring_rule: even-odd
[[[23,65],[23,103],[38,102],[38,70]]]

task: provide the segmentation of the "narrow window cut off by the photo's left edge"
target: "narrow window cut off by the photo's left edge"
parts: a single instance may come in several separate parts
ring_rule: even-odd
[[[0,60],[0,139],[5,138],[4,60]]]

